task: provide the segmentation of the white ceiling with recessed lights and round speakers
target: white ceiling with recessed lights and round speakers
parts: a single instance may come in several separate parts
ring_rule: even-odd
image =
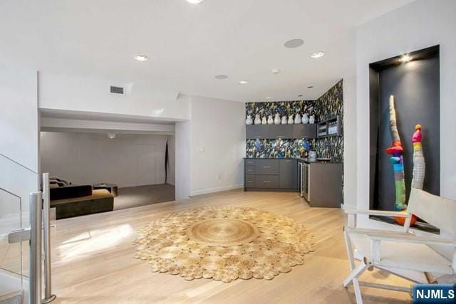
[[[0,63],[228,100],[315,99],[354,74],[355,26],[409,2],[1,0]],[[291,38],[304,46],[284,48]]]

